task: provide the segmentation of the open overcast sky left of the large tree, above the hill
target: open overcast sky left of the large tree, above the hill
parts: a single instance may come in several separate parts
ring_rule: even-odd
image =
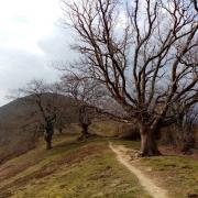
[[[54,62],[73,57],[59,0],[0,0],[0,106],[32,78],[57,79]]]

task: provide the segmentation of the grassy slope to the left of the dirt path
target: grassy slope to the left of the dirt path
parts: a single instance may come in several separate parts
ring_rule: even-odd
[[[0,182],[0,197],[150,197],[138,179],[118,163],[106,139],[79,143],[76,136],[56,136],[52,151],[38,144],[0,169],[16,165],[24,168]]]

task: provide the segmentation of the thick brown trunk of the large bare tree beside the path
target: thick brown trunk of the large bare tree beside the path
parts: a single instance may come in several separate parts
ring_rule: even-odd
[[[141,133],[141,156],[161,155],[157,147],[156,130],[150,127],[140,127]]]

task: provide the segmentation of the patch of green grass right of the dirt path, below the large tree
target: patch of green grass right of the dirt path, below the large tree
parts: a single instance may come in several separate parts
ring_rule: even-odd
[[[158,156],[142,160],[143,167],[152,167],[152,175],[172,197],[198,195],[198,161],[188,156]]]

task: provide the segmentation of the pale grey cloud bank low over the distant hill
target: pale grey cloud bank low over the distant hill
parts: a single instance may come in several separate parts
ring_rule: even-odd
[[[0,106],[8,102],[10,90],[23,87],[33,78],[52,82],[57,72],[50,66],[47,56],[37,56],[16,50],[0,48]]]

